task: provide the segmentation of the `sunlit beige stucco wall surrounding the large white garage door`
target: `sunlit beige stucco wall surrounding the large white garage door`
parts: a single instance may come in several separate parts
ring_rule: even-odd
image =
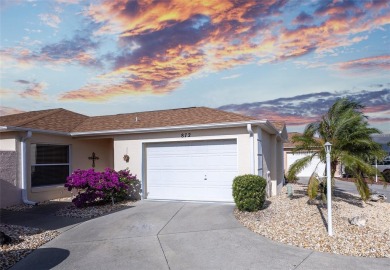
[[[121,170],[129,168],[138,179],[143,182],[144,189],[146,182],[146,155],[145,149],[149,143],[157,142],[183,142],[183,141],[204,141],[204,140],[237,140],[238,174],[249,174],[251,171],[251,147],[253,143],[254,172],[258,172],[258,147],[257,147],[257,127],[252,127],[255,135],[254,140],[250,140],[246,127],[207,129],[207,130],[180,130],[172,132],[158,132],[147,134],[118,135],[114,137],[114,168]],[[182,132],[190,132],[191,137],[181,138]],[[267,131],[261,130],[263,144],[263,177],[267,177],[267,171],[271,172],[271,180],[275,180],[275,191],[272,195],[279,193],[283,183],[283,148],[277,144],[276,135],[270,135]],[[127,163],[124,155],[130,156]],[[281,162],[281,164],[276,164]],[[144,192],[147,192],[144,190]]]

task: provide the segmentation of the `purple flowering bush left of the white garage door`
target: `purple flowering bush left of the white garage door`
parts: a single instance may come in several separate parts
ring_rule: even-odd
[[[129,197],[129,191],[135,183],[139,183],[139,180],[128,169],[118,172],[110,168],[104,172],[78,169],[67,178],[65,187],[69,191],[77,189],[78,194],[72,202],[76,207],[85,207],[122,201]]]

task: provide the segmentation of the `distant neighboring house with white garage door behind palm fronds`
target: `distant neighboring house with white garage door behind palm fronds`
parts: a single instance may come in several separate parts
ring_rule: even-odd
[[[308,153],[293,153],[295,145],[291,142],[291,138],[297,134],[299,133],[288,133],[288,142],[284,144],[284,167],[286,168],[286,172],[295,161],[308,155]],[[312,162],[304,168],[297,177],[310,177],[314,171],[316,171],[318,176],[325,175],[325,163],[320,162],[320,159],[317,156],[313,158]]]

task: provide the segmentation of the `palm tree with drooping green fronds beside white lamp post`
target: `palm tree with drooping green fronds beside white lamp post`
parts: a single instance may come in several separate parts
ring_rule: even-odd
[[[321,121],[308,124],[303,134],[294,135],[292,142],[296,146],[293,152],[308,155],[291,165],[288,179],[293,179],[316,156],[325,163],[324,144],[330,142],[332,144],[331,178],[334,179],[338,165],[342,164],[355,178],[361,198],[367,200],[370,190],[364,175],[370,178],[375,175],[376,169],[371,165],[370,160],[375,157],[380,159],[385,153],[381,146],[372,140],[371,135],[380,131],[368,126],[363,109],[364,106],[358,102],[347,98],[339,99],[322,116]],[[309,180],[309,195],[313,191],[310,187],[318,186],[318,182],[315,181],[314,171]],[[316,195],[316,191],[314,194]]]

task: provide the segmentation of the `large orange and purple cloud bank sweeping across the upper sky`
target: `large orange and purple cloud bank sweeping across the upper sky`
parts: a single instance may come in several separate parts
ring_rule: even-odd
[[[288,29],[274,17],[283,12],[285,4],[283,0],[92,4],[85,15],[102,25],[95,35],[118,34],[120,46],[131,45],[132,49],[114,59],[113,71],[96,78],[94,84],[65,93],[62,99],[96,101],[126,94],[169,93],[199,72],[351,46],[366,38],[359,34],[388,24],[390,18],[390,12],[384,12],[389,5],[378,9],[376,4],[357,1],[333,2],[320,6],[316,14],[301,13],[295,20],[301,25]],[[318,14],[322,23],[314,25]],[[183,63],[179,58],[184,58]]]

